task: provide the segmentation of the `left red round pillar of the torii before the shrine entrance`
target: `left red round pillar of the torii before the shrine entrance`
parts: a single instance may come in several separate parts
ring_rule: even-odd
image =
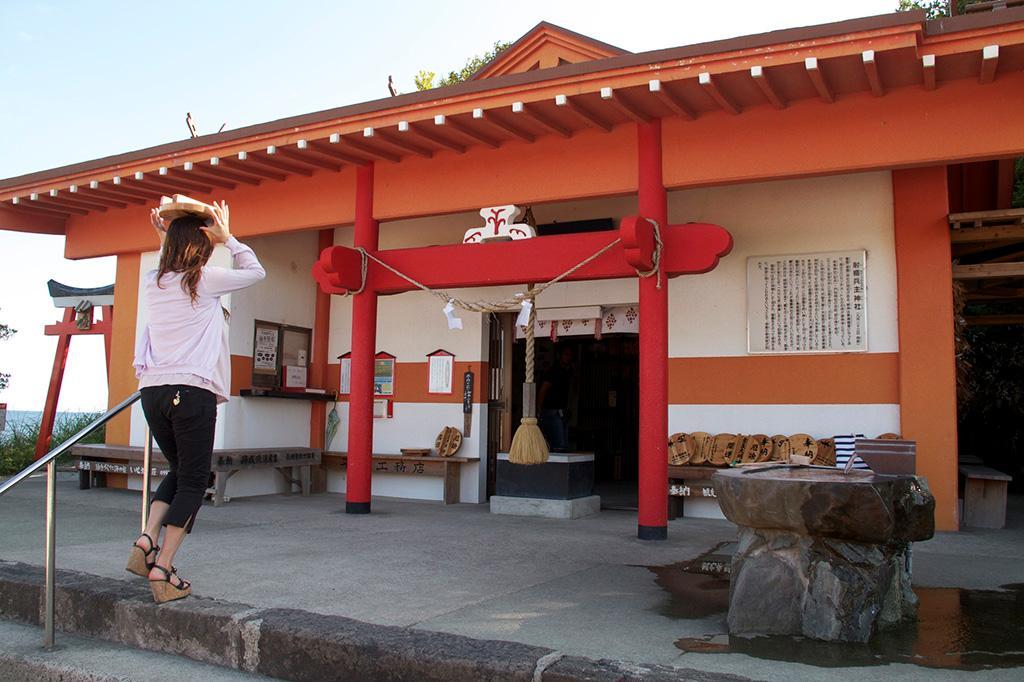
[[[374,220],[374,165],[355,169],[353,246],[376,251],[380,225]],[[345,511],[370,513],[374,449],[374,355],[377,346],[377,292],[352,297],[352,368],[348,396],[348,473]]]

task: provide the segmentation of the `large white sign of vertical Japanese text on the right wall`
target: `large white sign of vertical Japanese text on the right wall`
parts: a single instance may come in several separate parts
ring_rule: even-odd
[[[866,260],[865,251],[749,258],[750,352],[867,350]]]

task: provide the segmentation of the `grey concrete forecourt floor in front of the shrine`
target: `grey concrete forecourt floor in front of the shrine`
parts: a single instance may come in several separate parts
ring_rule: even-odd
[[[34,479],[0,499],[0,558],[42,563],[43,493],[43,481]],[[57,505],[59,567],[139,580],[124,571],[138,532],[137,493],[79,491],[77,476],[62,474]],[[817,649],[801,653],[799,641],[730,649],[722,644],[728,642],[725,584],[678,568],[657,570],[732,540],[727,521],[678,519],[667,542],[652,543],[636,539],[632,512],[520,518],[494,516],[485,505],[390,499],[375,500],[367,516],[343,508],[338,495],[209,506],[175,563],[197,594],[217,599],[755,679],[958,679],[963,670],[908,662],[934,660],[920,653],[929,647],[983,645],[951,640],[926,646],[921,639],[908,644],[906,656],[870,654],[866,660],[835,657],[835,651],[819,659]],[[1024,584],[1024,508],[1016,501],[1010,525],[939,534],[915,545],[915,586],[997,590]],[[1021,679],[1024,668],[1007,667],[1024,666],[1024,633],[1017,635],[1022,644],[1016,655],[996,655],[998,668],[977,674]],[[716,652],[684,651],[676,642],[685,638]],[[939,659],[970,660],[946,653],[940,650]]]

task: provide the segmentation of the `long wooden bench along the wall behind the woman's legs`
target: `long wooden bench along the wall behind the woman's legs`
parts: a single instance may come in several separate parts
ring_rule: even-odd
[[[142,475],[142,449],[131,445],[76,445],[72,455],[79,458],[79,487],[105,486],[103,474]],[[321,463],[321,451],[312,447],[234,447],[213,451],[210,471],[214,474],[213,506],[224,504],[227,480],[236,473],[249,469],[274,469],[288,483],[285,495],[298,486],[309,495],[310,470]],[[153,451],[151,475],[166,476],[167,460],[157,449]],[[97,475],[99,474],[99,475]]]

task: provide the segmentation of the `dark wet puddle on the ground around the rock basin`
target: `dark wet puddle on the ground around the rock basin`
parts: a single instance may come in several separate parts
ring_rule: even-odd
[[[696,620],[729,608],[727,571],[732,548],[720,545],[693,561],[650,566],[669,594],[659,611]],[[913,664],[926,668],[985,670],[1024,666],[1024,584],[996,590],[915,588],[918,620],[876,635],[867,644],[803,637],[730,637],[709,632],[676,642],[694,653],[744,653],[757,658],[822,668]],[[724,619],[722,619],[724,623]]]

